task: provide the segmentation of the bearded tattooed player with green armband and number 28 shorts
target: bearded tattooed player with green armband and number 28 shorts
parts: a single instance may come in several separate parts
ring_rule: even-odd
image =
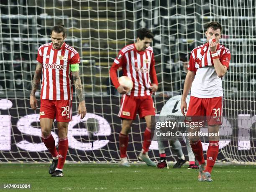
[[[53,162],[49,167],[52,177],[63,177],[63,166],[67,157],[68,125],[72,121],[72,76],[79,99],[78,113],[83,119],[86,114],[81,79],[79,77],[79,53],[67,45],[64,40],[66,33],[63,25],[56,25],[51,30],[51,43],[38,48],[37,66],[30,94],[31,108],[36,110],[35,92],[41,85],[40,124],[42,141],[50,151]],[[59,134],[59,152],[51,135],[52,123],[56,119]]]

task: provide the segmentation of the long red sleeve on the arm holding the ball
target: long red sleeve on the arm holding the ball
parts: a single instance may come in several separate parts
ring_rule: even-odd
[[[110,79],[113,85],[115,86],[115,88],[118,88],[120,86],[120,83],[118,82],[118,78],[117,78],[117,71],[119,67],[123,66],[123,63],[126,63],[126,59],[123,52],[119,51],[118,56],[115,58],[109,71]]]

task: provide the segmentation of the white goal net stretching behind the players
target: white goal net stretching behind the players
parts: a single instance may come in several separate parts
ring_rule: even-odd
[[[256,5],[253,0],[8,0],[0,2],[0,162],[48,162],[41,140],[39,110],[29,104],[37,49],[50,42],[50,30],[64,24],[66,42],[80,54],[80,74],[87,115],[69,123],[72,162],[118,162],[120,95],[111,85],[109,69],[121,48],[133,43],[136,30],[155,34],[152,47],[159,89],[153,96],[156,112],[172,96],[181,95],[188,53],[205,43],[210,21],[223,26],[220,43],[230,49],[231,63],[223,78],[228,133],[223,133],[218,161],[255,162]],[[183,61],[183,62],[182,62]],[[119,75],[121,75],[119,73]],[[39,100],[40,88],[36,92]],[[237,119],[245,115],[247,123]],[[136,118],[129,134],[128,159],[136,162],[146,124]],[[247,134],[244,134],[244,133]],[[51,134],[58,144],[56,121]],[[181,141],[187,154],[184,141]],[[203,144],[204,152],[207,142]],[[149,156],[157,161],[157,142]],[[176,156],[166,144],[168,161]]]

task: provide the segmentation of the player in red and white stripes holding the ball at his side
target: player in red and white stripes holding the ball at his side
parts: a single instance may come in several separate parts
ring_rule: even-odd
[[[127,160],[128,133],[133,120],[138,112],[140,118],[146,120],[146,130],[142,151],[138,158],[148,166],[156,166],[148,157],[148,148],[151,144],[151,116],[155,115],[154,102],[151,94],[157,91],[158,81],[155,70],[155,59],[153,49],[149,46],[154,37],[153,33],[146,28],[137,31],[136,43],[125,46],[115,58],[110,68],[110,78],[118,90],[123,94],[118,116],[123,120],[119,135],[120,164],[129,167]],[[120,85],[117,78],[117,70],[123,68],[123,75],[133,81],[133,88]],[[151,83],[152,80],[152,83]]]

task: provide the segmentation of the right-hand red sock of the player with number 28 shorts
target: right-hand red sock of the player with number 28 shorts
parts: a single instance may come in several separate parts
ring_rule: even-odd
[[[59,160],[57,169],[63,169],[66,157],[67,157],[67,150],[69,149],[69,141],[68,138],[59,138]]]

